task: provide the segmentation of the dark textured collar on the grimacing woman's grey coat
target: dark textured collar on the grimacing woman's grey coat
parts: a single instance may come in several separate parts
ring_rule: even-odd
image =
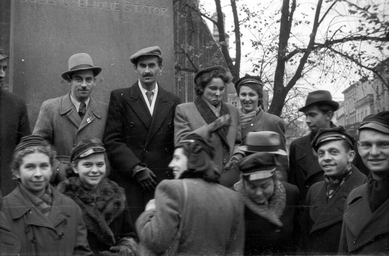
[[[210,110],[207,103],[205,103],[201,97],[196,97],[195,105],[198,109],[198,112],[200,112],[202,118],[205,120],[207,124],[210,124],[217,119],[215,114],[212,112],[212,110]],[[226,104],[223,101],[221,101],[220,116],[226,114],[230,114],[230,110],[228,109]],[[228,140],[227,140],[228,128],[223,127],[219,129],[216,133],[217,135],[219,135],[223,147],[225,147],[228,151],[230,151],[230,145],[228,145]]]

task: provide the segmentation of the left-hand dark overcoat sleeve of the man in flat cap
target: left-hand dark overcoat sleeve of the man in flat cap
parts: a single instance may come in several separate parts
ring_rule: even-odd
[[[103,141],[114,169],[129,173],[135,165],[142,162],[124,143],[123,120],[128,119],[122,112],[124,109],[123,97],[112,91]]]

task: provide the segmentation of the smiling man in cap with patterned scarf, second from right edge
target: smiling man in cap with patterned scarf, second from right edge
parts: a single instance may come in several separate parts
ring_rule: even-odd
[[[319,129],[312,140],[318,163],[324,171],[324,181],[308,190],[303,214],[301,252],[336,254],[342,231],[343,206],[347,195],[366,182],[352,160],[355,138],[342,126]]]

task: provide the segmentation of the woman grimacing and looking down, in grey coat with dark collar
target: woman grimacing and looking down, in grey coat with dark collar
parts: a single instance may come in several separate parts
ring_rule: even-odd
[[[210,139],[215,149],[214,163],[219,170],[223,170],[219,182],[227,187],[231,187],[239,179],[238,171],[229,170],[244,156],[238,149],[242,142],[238,109],[221,100],[231,78],[231,74],[222,66],[198,71],[194,79],[195,102],[178,105],[174,117],[174,144],[178,145],[191,131],[207,130],[207,126],[219,116],[231,116],[230,125],[213,133]]]

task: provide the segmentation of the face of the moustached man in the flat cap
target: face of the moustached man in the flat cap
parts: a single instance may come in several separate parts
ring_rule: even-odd
[[[157,81],[159,73],[162,72],[161,67],[158,66],[158,57],[146,57],[138,61],[135,70],[142,85],[152,85]]]

